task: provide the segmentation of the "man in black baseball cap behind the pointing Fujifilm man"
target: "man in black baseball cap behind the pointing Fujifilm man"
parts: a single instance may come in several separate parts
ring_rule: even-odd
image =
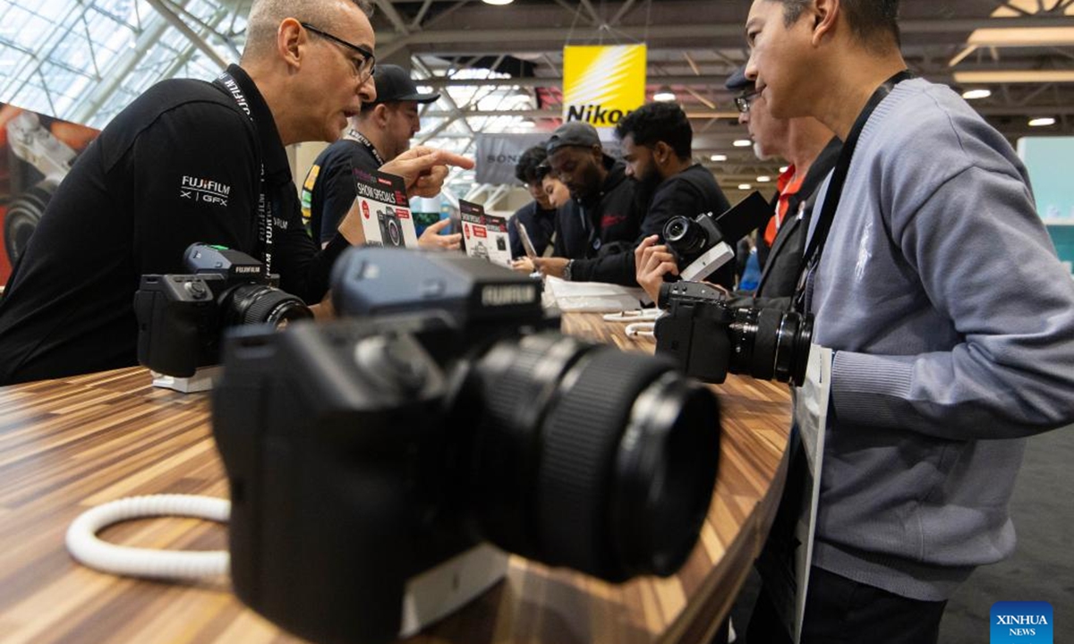
[[[302,216],[310,236],[326,244],[336,234],[339,221],[354,203],[353,167],[374,171],[405,152],[410,138],[421,129],[418,104],[432,103],[438,93],[421,93],[410,75],[395,64],[379,64],[374,73],[377,98],[363,103],[350,119],[350,128],[339,141],[324,148],[314,161],[302,186]],[[459,247],[456,235],[437,233],[450,222],[430,226],[422,246]]]

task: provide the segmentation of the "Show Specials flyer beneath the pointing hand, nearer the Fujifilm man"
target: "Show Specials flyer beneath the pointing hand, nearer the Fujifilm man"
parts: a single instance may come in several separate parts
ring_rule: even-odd
[[[403,177],[355,169],[354,188],[367,245],[418,248]]]

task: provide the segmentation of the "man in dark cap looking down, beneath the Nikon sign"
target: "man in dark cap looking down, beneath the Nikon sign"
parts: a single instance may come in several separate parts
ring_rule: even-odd
[[[576,281],[570,260],[629,250],[638,236],[640,215],[635,185],[626,165],[605,153],[596,129],[585,122],[560,126],[548,140],[548,164],[574,197],[556,220],[556,262],[541,270]]]

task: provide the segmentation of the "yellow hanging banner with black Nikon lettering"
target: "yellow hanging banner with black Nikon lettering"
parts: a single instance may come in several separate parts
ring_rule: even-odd
[[[645,45],[563,48],[563,120],[614,128],[645,102]]]

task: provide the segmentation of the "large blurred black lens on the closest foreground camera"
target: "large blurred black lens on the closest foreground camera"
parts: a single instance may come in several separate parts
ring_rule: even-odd
[[[484,409],[469,471],[480,530],[608,581],[671,574],[697,541],[720,408],[670,360],[557,334],[495,345],[467,396]],[[470,398],[473,402],[473,398]]]

